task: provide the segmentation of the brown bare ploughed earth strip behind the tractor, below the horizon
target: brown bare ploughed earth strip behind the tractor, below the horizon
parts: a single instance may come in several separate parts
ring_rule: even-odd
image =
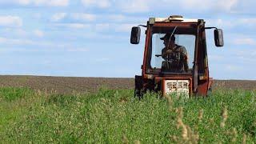
[[[0,76],[0,86],[29,87],[58,94],[95,92],[100,88],[134,89],[134,78],[78,78],[46,76]],[[214,80],[214,89],[256,90],[256,81]]]

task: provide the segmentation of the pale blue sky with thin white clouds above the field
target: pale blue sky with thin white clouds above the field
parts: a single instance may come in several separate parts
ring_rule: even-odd
[[[254,0],[0,0],[0,74],[133,78],[141,74],[145,35],[130,29],[150,17],[204,19],[223,30],[215,47],[206,31],[210,77],[256,74]]]

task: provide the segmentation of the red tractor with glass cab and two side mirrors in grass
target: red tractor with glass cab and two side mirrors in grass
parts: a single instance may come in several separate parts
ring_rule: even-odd
[[[150,18],[146,26],[134,26],[130,43],[138,44],[140,26],[146,27],[142,75],[135,76],[135,95],[147,90],[161,94],[206,96],[213,78],[209,77],[206,30],[214,29],[215,46],[223,46],[223,33],[216,27],[205,27],[203,19]]]

